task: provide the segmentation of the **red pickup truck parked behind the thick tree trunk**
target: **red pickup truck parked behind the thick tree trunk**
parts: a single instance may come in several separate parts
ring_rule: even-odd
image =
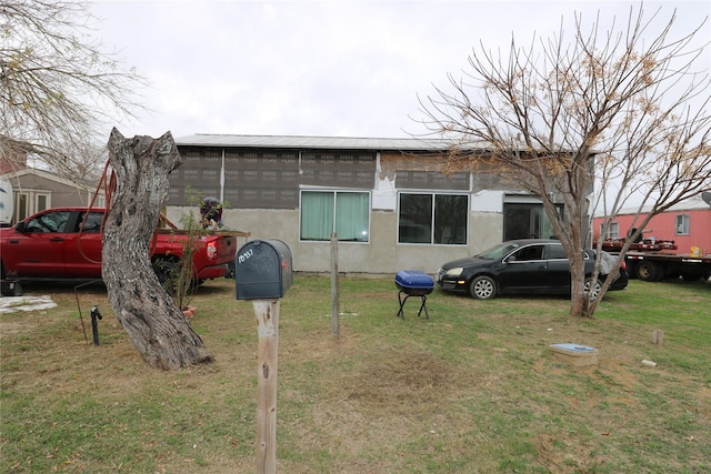
[[[101,279],[101,223],[104,209],[48,209],[17,225],[0,229],[0,276],[9,281]],[[183,231],[157,229],[151,262],[160,270],[177,265],[190,236]],[[196,283],[223,278],[233,264],[237,238],[206,232],[196,239]]]

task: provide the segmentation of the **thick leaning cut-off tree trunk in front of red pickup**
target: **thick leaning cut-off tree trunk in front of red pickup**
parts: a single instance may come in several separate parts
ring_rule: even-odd
[[[101,274],[119,322],[152,367],[174,370],[211,362],[212,355],[161,286],[150,262],[168,174],[181,163],[172,135],[126,139],[113,129],[109,161],[117,189],[104,224]]]

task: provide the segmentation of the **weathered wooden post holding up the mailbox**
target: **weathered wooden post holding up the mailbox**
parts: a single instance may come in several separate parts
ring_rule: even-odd
[[[277,366],[279,301],[254,300],[257,316],[257,472],[277,472]]]

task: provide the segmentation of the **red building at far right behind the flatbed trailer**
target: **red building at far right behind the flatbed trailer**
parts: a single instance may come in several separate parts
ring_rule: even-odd
[[[628,235],[634,226],[637,209],[622,210],[612,221],[608,239],[620,239]],[[645,211],[635,222],[647,215]],[[603,218],[593,219],[594,240],[600,235]],[[669,210],[654,215],[642,230],[644,239],[673,240],[677,252],[690,253],[692,246],[711,252],[711,204],[702,198],[702,193],[672,205]]]

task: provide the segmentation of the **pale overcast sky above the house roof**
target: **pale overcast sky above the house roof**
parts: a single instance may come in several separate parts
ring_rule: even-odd
[[[193,133],[397,138],[423,131],[418,94],[461,77],[473,47],[550,37],[561,18],[624,20],[635,2],[98,1],[96,34],[151,87],[127,137]],[[711,2],[648,1],[680,34]],[[570,27],[572,28],[572,27]],[[687,31],[688,32],[688,31]],[[677,34],[678,36],[678,34]],[[705,40],[711,40],[707,23]],[[709,56],[704,58],[705,64]],[[107,137],[109,131],[107,130]]]

